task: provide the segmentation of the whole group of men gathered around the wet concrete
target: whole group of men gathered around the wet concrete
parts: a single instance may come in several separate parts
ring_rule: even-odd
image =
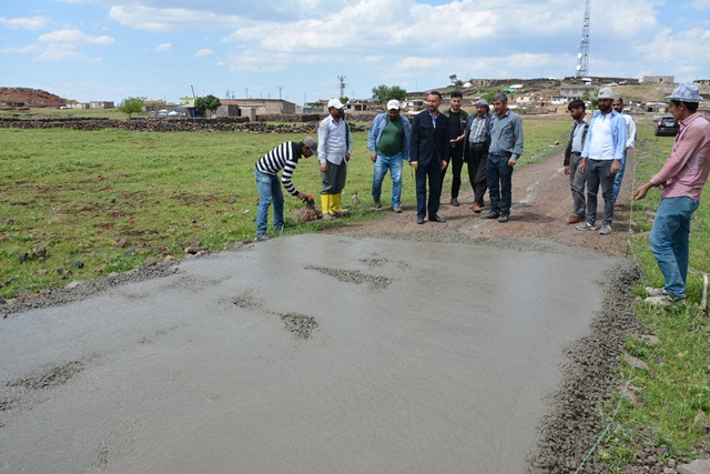
[[[667,306],[684,302],[688,274],[690,218],[698,209],[700,193],[710,173],[710,123],[697,113],[702,98],[693,84],[681,84],[671,95],[669,109],[680,124],[671,155],[662,170],[638,188],[632,199],[640,200],[655,186],[663,188],[649,239],[666,284],[648,288],[647,303]],[[427,109],[412,122],[402,115],[397,100],[387,102],[369,128],[367,148],[373,161],[372,196],[382,209],[382,184],[387,172],[392,178],[392,210],[402,212],[403,163],[415,171],[417,224],[446,222],[438,213],[442,189],[448,168],[452,169],[449,203],[460,205],[464,164],[474,191],[471,210],[480,213],[488,191],[490,209],[481,219],[508,222],[511,209],[513,172],[523,154],[524,137],[520,117],[508,109],[505,93],[493,97],[494,113],[484,99],[474,103],[475,114],[462,109],[463,94],[450,94],[449,108],[440,111],[442,94],[427,95]],[[623,100],[610,88],[597,94],[598,110],[587,113],[585,102],[571,101],[567,109],[572,119],[564,169],[569,177],[572,213],[567,223],[579,231],[612,231],[615,203],[621,189],[627,158],[633,150],[636,123],[623,113]],[[274,229],[283,230],[283,194],[281,183],[294,196],[310,196],[296,190],[291,181],[300,158],[317,155],[321,164],[321,203],[323,218],[347,214],[341,208],[346,183],[347,163],[353,151],[349,125],[345,122],[344,104],[332,99],[328,115],[318,125],[317,142],[312,137],[285,142],[262,157],[255,165],[260,205],[257,240],[267,240],[267,211],[274,205]],[[601,225],[597,225],[598,194],[604,200]]]

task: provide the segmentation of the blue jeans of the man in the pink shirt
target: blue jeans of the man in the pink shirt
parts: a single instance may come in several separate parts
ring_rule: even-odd
[[[648,243],[666,280],[663,289],[671,296],[686,297],[690,218],[699,205],[692,198],[666,198],[656,211]]]

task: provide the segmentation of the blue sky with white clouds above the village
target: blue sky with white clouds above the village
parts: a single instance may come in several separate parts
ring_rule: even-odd
[[[585,0],[2,0],[0,85],[79,101],[368,98],[575,74]],[[710,79],[710,0],[592,0],[589,74]]]

